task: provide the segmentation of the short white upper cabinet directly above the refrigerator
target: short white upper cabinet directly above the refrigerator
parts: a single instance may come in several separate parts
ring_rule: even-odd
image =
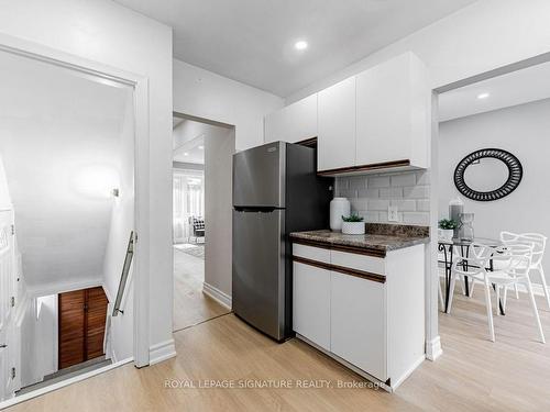
[[[317,136],[317,93],[265,116],[265,143],[296,143]]]

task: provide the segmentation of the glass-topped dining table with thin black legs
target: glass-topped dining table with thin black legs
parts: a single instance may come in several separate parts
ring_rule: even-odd
[[[438,258],[439,263],[444,264],[444,270],[446,270],[446,298],[444,298],[444,309],[447,312],[447,308],[449,308],[449,291],[451,287],[451,268],[453,265],[453,255],[455,248],[460,248],[460,255],[469,257],[470,255],[470,248],[472,244],[481,244],[484,246],[488,247],[494,247],[497,248],[499,246],[503,246],[503,243],[501,241],[494,240],[494,238],[487,238],[487,237],[475,237],[473,241],[466,241],[463,238],[458,238],[453,237],[452,241],[448,240],[439,240],[438,241],[438,252],[443,255],[443,260],[440,260]],[[469,264],[468,261],[462,261],[461,266],[464,268],[464,270],[468,270]],[[493,259],[488,260],[488,267],[487,270],[493,271]],[[493,285],[493,289],[495,289],[495,285]],[[470,297],[470,285],[469,285],[469,279],[468,276],[464,277],[464,292],[466,297]],[[504,315],[504,307],[502,300],[498,301],[498,309],[501,311],[501,314]]]

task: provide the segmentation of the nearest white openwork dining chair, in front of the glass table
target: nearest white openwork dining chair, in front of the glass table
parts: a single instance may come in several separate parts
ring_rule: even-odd
[[[487,323],[490,330],[490,338],[495,342],[495,329],[493,323],[493,307],[491,303],[492,285],[495,285],[496,305],[498,313],[498,302],[501,291],[503,291],[503,307],[506,305],[506,294],[509,286],[521,283],[526,287],[532,314],[537,323],[539,338],[546,343],[544,333],[540,323],[537,303],[532,293],[532,286],[529,280],[529,268],[531,266],[534,246],[525,243],[507,244],[504,247],[494,248],[482,244],[472,244],[469,256],[457,256],[451,269],[451,291],[449,296],[449,308],[447,313],[451,313],[453,288],[459,276],[468,276],[472,282],[477,281],[485,289],[485,307],[487,312]],[[487,270],[490,260],[498,261],[502,269]],[[468,263],[468,270],[464,269],[462,263]]]

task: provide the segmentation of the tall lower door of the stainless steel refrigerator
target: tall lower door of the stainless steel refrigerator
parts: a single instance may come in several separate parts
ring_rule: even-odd
[[[234,313],[277,341],[285,338],[285,211],[233,210]]]

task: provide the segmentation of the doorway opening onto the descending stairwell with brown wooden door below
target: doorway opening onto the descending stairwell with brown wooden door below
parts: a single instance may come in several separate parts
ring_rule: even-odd
[[[132,359],[134,88],[10,52],[0,74],[0,400],[14,403]]]

